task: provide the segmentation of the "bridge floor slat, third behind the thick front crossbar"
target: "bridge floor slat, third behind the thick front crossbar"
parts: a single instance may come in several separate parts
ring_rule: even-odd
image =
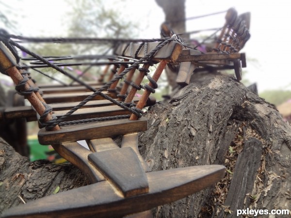
[[[116,98],[115,93],[102,92],[112,98]],[[90,96],[92,93],[58,93],[58,94],[44,94],[43,98],[47,104],[51,103],[62,103],[62,102],[75,102],[82,101],[86,97]],[[104,99],[101,95],[96,95],[92,100],[102,100]]]

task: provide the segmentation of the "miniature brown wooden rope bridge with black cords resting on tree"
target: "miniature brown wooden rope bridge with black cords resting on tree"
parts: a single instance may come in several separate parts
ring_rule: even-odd
[[[170,64],[179,65],[176,81],[180,85],[189,84],[194,72],[213,69],[234,69],[240,80],[241,67],[246,63],[245,55],[238,52],[250,37],[248,26],[243,16],[229,9],[226,24],[212,51],[207,53],[186,45],[166,25],[162,25],[163,38],[150,40],[29,38],[0,31],[0,71],[13,79],[17,93],[32,105],[6,108],[0,120],[19,117],[37,120],[41,128],[39,142],[51,144],[91,182],[86,187],[9,209],[3,217],[122,217],[177,201],[218,182],[225,170],[219,165],[151,172],[138,151],[138,132],[147,130],[142,109],[155,103],[150,94],[155,92],[162,71]],[[114,51],[112,55],[105,52],[42,57],[22,46],[26,42],[109,44]],[[31,57],[19,58],[16,48]],[[22,64],[23,61],[30,63]],[[105,69],[98,81],[93,82],[84,82],[63,69],[80,65],[88,65],[82,75],[92,66],[105,65]],[[152,76],[151,65],[156,65]],[[48,67],[72,82],[66,84],[40,70]],[[37,85],[29,69],[60,84]],[[145,77],[149,83],[142,85]],[[143,94],[136,97],[139,90]],[[112,139],[118,135],[122,135],[120,147]],[[90,150],[82,147],[79,140],[86,140]]]

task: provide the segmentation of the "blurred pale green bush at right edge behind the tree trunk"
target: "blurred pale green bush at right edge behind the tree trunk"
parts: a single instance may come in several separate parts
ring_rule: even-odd
[[[291,99],[291,91],[290,90],[267,90],[259,93],[261,98],[264,98],[267,102],[278,106],[288,99]]]

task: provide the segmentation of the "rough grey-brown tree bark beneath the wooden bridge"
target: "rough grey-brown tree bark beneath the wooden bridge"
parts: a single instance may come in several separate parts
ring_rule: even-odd
[[[194,74],[189,86],[146,117],[140,151],[153,171],[205,164],[227,168],[221,182],[155,208],[155,217],[230,218],[237,208],[291,209],[291,126],[234,78]],[[65,191],[86,184],[74,166],[30,162],[0,141],[0,211],[22,203],[18,195],[31,201],[58,186]]]

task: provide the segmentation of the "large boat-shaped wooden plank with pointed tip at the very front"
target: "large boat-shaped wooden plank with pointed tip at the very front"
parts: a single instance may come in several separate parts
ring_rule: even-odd
[[[194,166],[147,172],[149,192],[130,198],[120,196],[108,181],[50,195],[8,209],[2,218],[105,218],[122,217],[177,201],[214,185],[225,175],[220,165]]]

